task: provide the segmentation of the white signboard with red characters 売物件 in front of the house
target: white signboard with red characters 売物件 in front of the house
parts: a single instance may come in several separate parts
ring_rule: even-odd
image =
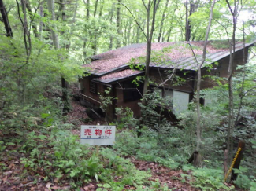
[[[115,134],[115,126],[82,125],[80,142],[84,145],[114,145]]]

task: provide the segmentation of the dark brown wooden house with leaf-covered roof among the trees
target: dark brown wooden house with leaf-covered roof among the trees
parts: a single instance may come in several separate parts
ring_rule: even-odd
[[[236,43],[235,67],[247,61],[248,49],[250,46],[254,46],[254,42],[245,45],[243,42]],[[197,63],[202,60],[203,42],[189,43],[190,45],[188,42],[152,43],[150,80],[154,82],[154,85],[150,85],[150,87],[158,87],[162,97],[169,97],[173,100],[171,108],[174,115],[187,109],[196,90]],[[109,105],[109,119],[117,117],[115,108],[119,107],[131,108],[134,116],[139,117],[138,103],[142,98],[143,83],[139,83],[137,86],[133,80],[144,75],[143,69],[138,68],[143,68],[146,50],[146,43],[132,44],[93,57],[90,64],[84,65],[84,67],[91,68],[91,75],[79,79],[80,99],[83,104],[96,111],[101,104],[99,94],[104,95],[105,90],[110,88],[110,96],[117,97],[117,99],[114,99],[113,104]],[[211,76],[228,77],[230,56],[228,42],[210,41],[206,51],[206,62],[202,68],[202,76],[204,76],[202,89],[217,86]],[[177,84],[173,80],[166,81],[173,70],[175,70],[176,78],[181,79],[182,83]],[[162,84],[163,82],[165,83]],[[159,86],[159,84],[162,85]]]

